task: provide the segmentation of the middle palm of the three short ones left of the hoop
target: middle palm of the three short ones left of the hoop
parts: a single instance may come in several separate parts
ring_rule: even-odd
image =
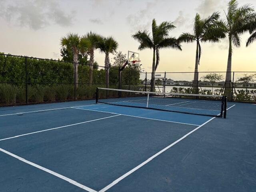
[[[93,74],[93,64],[94,64],[94,50],[99,48],[99,43],[102,41],[102,36],[93,32],[87,33],[83,38],[89,40],[90,46],[89,46],[89,55],[90,55],[90,61],[89,61],[89,84],[92,86],[92,74]]]

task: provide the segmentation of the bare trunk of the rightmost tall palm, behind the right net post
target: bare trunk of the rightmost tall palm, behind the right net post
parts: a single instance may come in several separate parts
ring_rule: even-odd
[[[228,100],[231,99],[231,95],[232,95],[231,63],[232,63],[232,41],[231,41],[231,37],[229,37],[228,64],[227,64],[225,91],[224,91],[224,94],[227,96]]]

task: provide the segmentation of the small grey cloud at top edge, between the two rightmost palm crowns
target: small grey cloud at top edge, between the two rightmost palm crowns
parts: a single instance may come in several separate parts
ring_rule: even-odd
[[[226,0],[202,0],[201,4],[196,8],[196,11],[198,11],[202,17],[208,17],[213,12],[225,9],[226,4]]]

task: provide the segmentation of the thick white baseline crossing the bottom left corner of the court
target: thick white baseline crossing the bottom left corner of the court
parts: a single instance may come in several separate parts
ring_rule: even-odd
[[[70,179],[70,178],[67,178],[67,177],[65,177],[65,176],[63,176],[63,175],[61,175],[61,174],[58,174],[58,173],[56,173],[56,172],[54,172],[54,171],[52,171],[52,170],[49,170],[49,169],[47,169],[47,168],[45,168],[45,167],[42,167],[42,166],[40,166],[40,165],[38,165],[38,164],[35,164],[35,163],[31,162],[31,161],[28,161],[28,160],[26,160],[26,159],[24,159],[24,158],[22,158],[22,157],[20,157],[20,156],[17,156],[17,155],[15,155],[15,154],[11,153],[11,152],[8,152],[8,151],[6,151],[6,150],[4,150],[4,149],[2,149],[2,148],[0,148],[0,151],[2,151],[3,153],[8,154],[8,155],[10,155],[10,156],[16,158],[16,159],[18,159],[18,160],[20,160],[20,161],[22,161],[22,162],[24,162],[24,163],[26,163],[26,164],[29,164],[29,165],[31,165],[31,166],[34,166],[34,167],[40,169],[40,170],[43,170],[43,171],[45,171],[45,172],[48,172],[48,173],[50,173],[50,174],[52,174],[52,175],[54,175],[54,176],[56,176],[56,177],[58,177],[58,178],[60,178],[60,179],[63,179],[63,180],[65,180],[65,181],[67,181],[67,182],[69,182],[69,183],[71,183],[71,184],[73,184],[73,185],[75,185],[75,186],[78,186],[79,188],[82,188],[82,189],[84,189],[84,190],[86,190],[86,191],[88,191],[88,192],[97,192],[97,191],[95,191],[95,190],[93,190],[93,189],[91,189],[91,188],[89,188],[89,187],[87,187],[87,186],[84,186],[84,185],[82,185],[82,184],[80,184],[80,183],[78,183],[78,182],[76,182],[76,181],[74,181],[74,180],[72,180],[72,179]]]

